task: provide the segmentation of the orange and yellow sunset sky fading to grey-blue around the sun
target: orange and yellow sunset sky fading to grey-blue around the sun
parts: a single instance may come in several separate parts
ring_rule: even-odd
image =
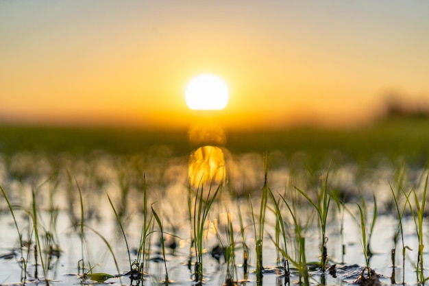
[[[429,102],[429,1],[0,0],[0,123],[354,126]],[[211,73],[223,110],[190,110]]]

